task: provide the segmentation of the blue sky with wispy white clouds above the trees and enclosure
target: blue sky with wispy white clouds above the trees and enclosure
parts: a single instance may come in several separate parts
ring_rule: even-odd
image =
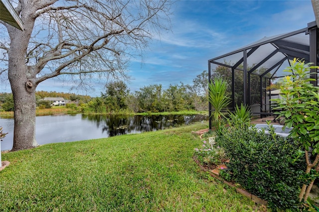
[[[150,42],[143,58],[128,67],[131,92],[148,85],[192,85],[208,68],[208,60],[257,41],[307,27],[315,20],[311,0],[179,0],[172,5],[171,30]],[[67,81],[49,79],[37,91],[71,92],[100,96],[95,91],[70,91]],[[1,92],[10,92],[1,86]]]

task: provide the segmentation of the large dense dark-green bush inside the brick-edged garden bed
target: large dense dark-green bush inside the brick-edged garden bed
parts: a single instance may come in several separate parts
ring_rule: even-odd
[[[273,127],[266,134],[248,123],[229,123],[230,127],[216,139],[216,145],[223,147],[230,158],[231,176],[227,177],[267,200],[275,211],[297,210],[306,166],[302,148],[276,135]]]

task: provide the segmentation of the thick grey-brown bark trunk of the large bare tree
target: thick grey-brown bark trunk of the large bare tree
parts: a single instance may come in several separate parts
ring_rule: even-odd
[[[31,7],[21,13],[24,31],[8,26],[10,49],[8,51],[8,78],[14,102],[14,131],[12,151],[37,146],[35,140],[35,72],[25,64],[25,53],[34,25]]]

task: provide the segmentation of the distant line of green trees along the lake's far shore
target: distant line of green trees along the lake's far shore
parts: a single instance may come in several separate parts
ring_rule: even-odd
[[[144,86],[139,91],[130,92],[123,81],[114,81],[106,85],[105,93],[91,98],[69,93],[37,91],[36,101],[43,108],[49,105],[43,102],[44,97],[62,97],[70,100],[68,108],[83,113],[110,112],[164,112],[181,110],[206,110],[208,108],[208,72],[203,71],[193,79],[192,85],[183,83],[170,85],[163,89],[162,85]],[[1,110],[13,110],[12,94],[0,94]],[[46,106],[48,105],[48,106]]]

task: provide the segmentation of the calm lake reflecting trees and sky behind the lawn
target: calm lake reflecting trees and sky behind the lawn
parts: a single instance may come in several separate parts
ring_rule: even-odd
[[[46,115],[36,116],[38,144],[107,138],[123,134],[156,131],[181,124],[207,120],[207,115]],[[0,118],[3,132],[1,151],[12,149],[13,118]]]

